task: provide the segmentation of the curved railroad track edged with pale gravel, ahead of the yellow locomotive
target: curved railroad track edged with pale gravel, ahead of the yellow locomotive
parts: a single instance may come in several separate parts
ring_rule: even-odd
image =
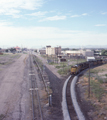
[[[62,110],[64,120],[86,120],[76,98],[75,85],[77,80],[78,75],[70,75],[63,86]]]

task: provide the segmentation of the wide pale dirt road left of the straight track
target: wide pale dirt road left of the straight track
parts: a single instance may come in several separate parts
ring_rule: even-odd
[[[27,79],[25,79],[26,54],[0,73],[0,117],[5,120],[29,120]],[[26,119],[25,119],[26,118]]]

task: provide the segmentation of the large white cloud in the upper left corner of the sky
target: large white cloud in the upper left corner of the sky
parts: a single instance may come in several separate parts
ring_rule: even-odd
[[[22,9],[35,10],[43,5],[43,0],[0,0],[0,15],[20,17]]]

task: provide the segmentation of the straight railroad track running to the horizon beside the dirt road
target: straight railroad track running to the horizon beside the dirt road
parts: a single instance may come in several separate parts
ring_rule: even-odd
[[[30,80],[30,91],[31,91],[31,101],[32,101],[32,120],[43,120],[42,107],[38,92],[38,85],[36,82],[35,67],[33,64],[33,56],[30,53],[29,55],[30,62],[30,71],[29,71],[29,80]]]

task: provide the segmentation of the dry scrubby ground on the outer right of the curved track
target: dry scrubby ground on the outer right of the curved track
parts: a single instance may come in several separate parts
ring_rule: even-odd
[[[90,74],[90,97],[88,97],[87,71],[77,83],[80,103],[90,120],[107,120],[107,64],[95,67]],[[93,88],[94,87],[94,88]]]

